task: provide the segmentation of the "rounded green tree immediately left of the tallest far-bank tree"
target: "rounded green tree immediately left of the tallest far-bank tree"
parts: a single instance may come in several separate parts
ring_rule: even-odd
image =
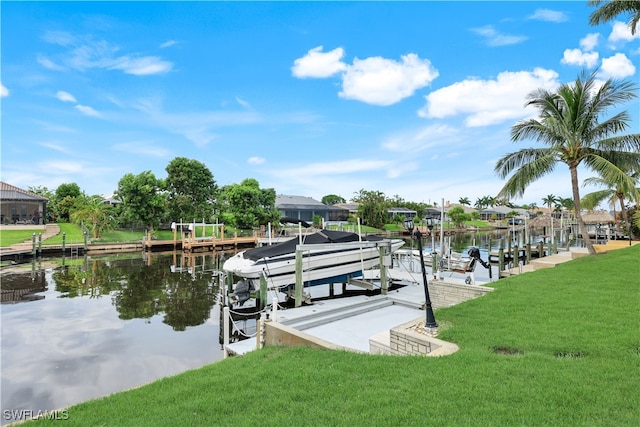
[[[167,219],[164,181],[156,178],[151,171],[123,176],[118,182],[116,196],[122,202],[124,216],[143,223],[150,230]]]

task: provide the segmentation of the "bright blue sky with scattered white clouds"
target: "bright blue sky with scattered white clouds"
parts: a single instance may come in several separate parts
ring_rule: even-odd
[[[109,195],[181,156],[220,186],[474,203],[501,189],[498,158],[535,146],[509,139],[532,90],[639,80],[640,31],[590,26],[586,1],[0,7],[1,180],[22,188]],[[563,165],[514,202],[548,194],[571,197]]]

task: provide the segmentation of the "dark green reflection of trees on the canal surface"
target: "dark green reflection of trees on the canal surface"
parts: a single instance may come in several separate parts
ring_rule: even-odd
[[[61,298],[110,296],[120,319],[150,319],[164,313],[164,323],[184,331],[210,316],[219,289],[214,274],[219,256],[180,254],[185,268],[175,268],[177,257],[171,254],[85,257],[78,265],[56,270],[52,278]]]

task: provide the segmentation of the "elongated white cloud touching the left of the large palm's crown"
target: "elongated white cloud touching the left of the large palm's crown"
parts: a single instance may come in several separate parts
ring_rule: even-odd
[[[552,90],[559,84],[558,73],[543,68],[505,71],[493,80],[469,78],[431,92],[418,115],[425,118],[467,115],[465,124],[469,127],[522,119],[531,114],[524,108],[529,93],[539,88]]]

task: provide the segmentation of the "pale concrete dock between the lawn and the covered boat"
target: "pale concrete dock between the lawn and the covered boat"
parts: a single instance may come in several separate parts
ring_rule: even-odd
[[[270,327],[274,327],[274,323],[278,325],[276,339],[282,343],[303,340],[314,346],[364,353],[393,353],[389,350],[392,330],[402,325],[424,322],[426,312],[421,274],[400,274],[401,269],[389,269],[388,272],[392,270],[396,270],[395,274],[391,273],[395,275],[394,280],[406,281],[407,285],[387,294],[317,300],[316,297],[328,293],[330,285],[305,288],[305,292],[311,293],[311,304],[289,309],[278,308],[269,313]],[[370,270],[363,280],[373,280],[379,274],[376,270]],[[420,278],[420,283],[409,282],[416,277]],[[453,277],[428,280],[428,287],[434,309],[459,304],[493,290],[490,287],[469,285],[463,279]],[[270,298],[273,298],[273,294],[270,293]],[[270,304],[272,303],[271,299]],[[257,334],[254,338],[225,344],[224,348],[229,355],[243,355],[259,348],[260,338],[260,334]],[[429,339],[439,341],[433,337]],[[438,347],[450,348],[441,341],[438,342]],[[443,351],[446,350],[439,350],[435,354],[442,354]]]

